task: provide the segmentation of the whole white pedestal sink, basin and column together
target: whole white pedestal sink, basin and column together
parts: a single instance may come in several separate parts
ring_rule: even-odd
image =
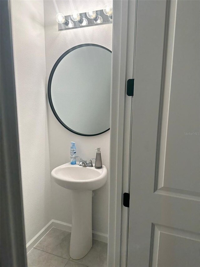
[[[83,258],[92,247],[92,191],[107,180],[107,168],[82,167],[70,163],[51,172],[54,181],[72,194],[72,233],[69,254],[72,259]]]

